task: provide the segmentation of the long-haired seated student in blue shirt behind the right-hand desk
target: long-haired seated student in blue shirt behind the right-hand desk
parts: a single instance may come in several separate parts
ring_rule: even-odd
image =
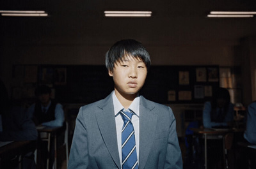
[[[213,92],[212,101],[205,102],[203,110],[204,128],[230,128],[234,121],[234,105],[230,103],[230,94],[227,89],[218,87]],[[222,140],[207,140],[208,166],[220,168],[223,166]]]

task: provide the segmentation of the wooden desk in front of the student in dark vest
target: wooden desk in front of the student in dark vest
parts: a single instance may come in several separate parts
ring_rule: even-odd
[[[42,126],[40,127],[36,127],[37,131],[38,131],[38,135],[40,136],[42,133],[46,133],[47,137],[46,138],[41,138],[41,140],[45,140],[47,141],[47,151],[50,152],[50,144],[51,144],[51,139],[54,138],[54,168],[57,168],[57,135],[58,133],[61,132],[61,130],[63,129],[63,127],[44,127],[42,128]],[[47,158],[47,169],[49,169],[49,159],[51,158],[51,153],[48,153],[49,156]]]

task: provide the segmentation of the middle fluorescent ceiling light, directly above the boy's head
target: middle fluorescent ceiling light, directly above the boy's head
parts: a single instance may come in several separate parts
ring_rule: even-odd
[[[104,11],[105,17],[151,17],[152,11]]]

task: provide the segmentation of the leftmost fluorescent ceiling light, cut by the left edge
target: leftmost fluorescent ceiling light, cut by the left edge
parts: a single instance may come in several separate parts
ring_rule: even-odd
[[[47,17],[45,11],[17,11],[17,10],[0,10],[4,17]]]

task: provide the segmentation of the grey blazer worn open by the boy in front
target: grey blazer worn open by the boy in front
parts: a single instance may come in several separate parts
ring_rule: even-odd
[[[140,169],[182,168],[175,117],[170,107],[140,96]],[[69,169],[121,168],[112,95],[81,107]]]

